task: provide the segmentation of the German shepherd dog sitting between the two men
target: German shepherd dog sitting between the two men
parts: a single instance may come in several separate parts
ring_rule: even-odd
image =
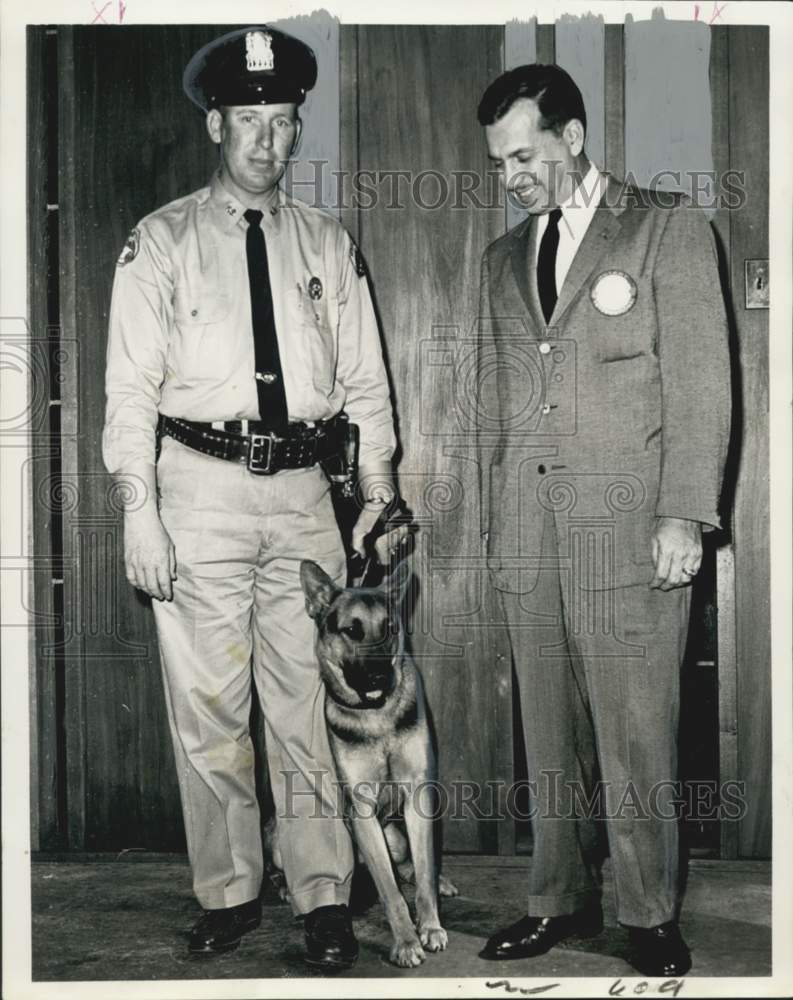
[[[300,579],[317,625],[325,718],[345,815],[391,927],[390,959],[416,966],[425,949],[446,947],[438,891],[456,896],[457,889],[435,866],[436,758],[421,678],[405,652],[399,614],[410,571],[402,562],[385,586],[342,589],[305,560]],[[407,843],[395,821],[400,813]],[[402,881],[415,879],[415,927],[394,865]]]

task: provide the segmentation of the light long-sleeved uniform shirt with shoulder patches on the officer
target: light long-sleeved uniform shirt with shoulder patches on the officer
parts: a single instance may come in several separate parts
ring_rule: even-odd
[[[215,175],[128,239],[110,309],[109,472],[154,463],[158,411],[259,419],[245,209]],[[289,419],[326,420],[344,408],[360,428],[360,466],[390,468],[391,400],[357,247],[331,216],[280,190],[261,225]]]

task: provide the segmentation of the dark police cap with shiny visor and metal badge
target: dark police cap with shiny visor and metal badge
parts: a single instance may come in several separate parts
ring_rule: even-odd
[[[182,80],[204,111],[221,104],[302,104],[317,82],[317,60],[303,42],[267,25],[238,28],[193,56]]]

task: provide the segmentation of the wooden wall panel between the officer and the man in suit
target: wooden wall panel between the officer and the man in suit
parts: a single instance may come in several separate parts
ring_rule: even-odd
[[[472,372],[479,262],[503,232],[504,212],[464,198],[455,206],[454,196],[455,172],[483,178],[488,171],[476,107],[500,72],[503,32],[442,26],[343,31],[356,36],[359,81],[357,159],[349,166],[412,178],[412,190],[402,189],[404,207],[396,210],[383,183],[377,204],[358,212],[357,229],[393,379],[399,482],[422,527],[413,651],[434,714],[443,782],[506,784],[512,775],[509,648],[503,630],[490,627],[493,594],[482,566],[477,466],[461,423],[472,414],[458,410],[471,403],[461,382]],[[417,180],[424,171],[437,175]],[[449,185],[445,199],[442,183]],[[450,818],[444,842],[451,850],[495,852],[508,827]]]

